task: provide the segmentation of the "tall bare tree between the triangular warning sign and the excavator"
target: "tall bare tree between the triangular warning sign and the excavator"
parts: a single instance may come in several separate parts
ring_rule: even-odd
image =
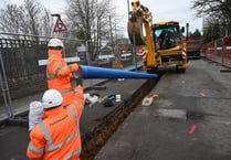
[[[72,29],[90,42],[91,60],[95,60],[102,39],[109,35],[111,0],[66,0],[66,15]]]

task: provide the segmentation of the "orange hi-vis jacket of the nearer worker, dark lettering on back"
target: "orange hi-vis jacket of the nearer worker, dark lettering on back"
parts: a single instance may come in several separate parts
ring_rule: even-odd
[[[78,85],[74,93],[69,106],[46,110],[43,121],[31,130],[27,151],[29,159],[80,160],[80,119],[84,109],[82,86]]]

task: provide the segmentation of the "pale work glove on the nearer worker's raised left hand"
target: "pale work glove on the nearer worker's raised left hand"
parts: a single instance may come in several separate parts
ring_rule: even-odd
[[[35,127],[36,124],[42,121],[42,116],[44,114],[42,103],[32,102],[30,103],[29,109],[29,131]]]

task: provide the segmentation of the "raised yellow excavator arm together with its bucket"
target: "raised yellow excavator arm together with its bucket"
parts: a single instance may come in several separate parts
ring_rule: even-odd
[[[129,12],[128,36],[134,45],[146,45],[147,61],[144,63],[146,68],[156,68],[155,45],[151,39],[151,13],[148,8],[140,4],[139,0],[132,2],[133,11]],[[146,38],[143,34],[145,25]]]

